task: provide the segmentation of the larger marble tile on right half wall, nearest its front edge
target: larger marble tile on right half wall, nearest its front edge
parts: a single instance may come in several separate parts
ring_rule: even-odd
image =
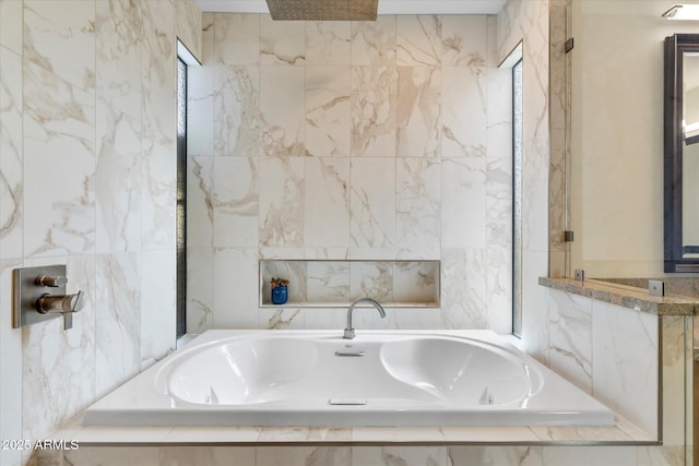
[[[651,434],[657,432],[657,316],[593,301],[592,392]]]

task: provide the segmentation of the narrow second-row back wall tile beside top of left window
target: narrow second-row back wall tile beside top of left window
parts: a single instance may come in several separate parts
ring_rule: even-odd
[[[223,89],[214,87],[218,70],[212,65],[187,68],[187,155],[214,155],[214,128],[221,124],[214,119],[214,101],[223,101]]]

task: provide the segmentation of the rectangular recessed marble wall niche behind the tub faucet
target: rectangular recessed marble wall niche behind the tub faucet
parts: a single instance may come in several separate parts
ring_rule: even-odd
[[[439,261],[260,261],[260,307],[271,278],[286,278],[285,308],[344,308],[374,298],[388,308],[439,308]]]

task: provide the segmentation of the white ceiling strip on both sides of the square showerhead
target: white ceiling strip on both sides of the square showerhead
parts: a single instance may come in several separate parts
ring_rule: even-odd
[[[202,11],[269,13],[264,0],[197,0]],[[497,14],[506,0],[379,0],[379,14]]]

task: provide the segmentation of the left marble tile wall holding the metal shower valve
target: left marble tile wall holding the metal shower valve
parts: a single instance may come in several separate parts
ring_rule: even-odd
[[[0,438],[37,439],[175,345],[176,39],[200,53],[201,14],[1,0],[0,32]],[[12,268],[55,263],[73,328],[10,328]]]

